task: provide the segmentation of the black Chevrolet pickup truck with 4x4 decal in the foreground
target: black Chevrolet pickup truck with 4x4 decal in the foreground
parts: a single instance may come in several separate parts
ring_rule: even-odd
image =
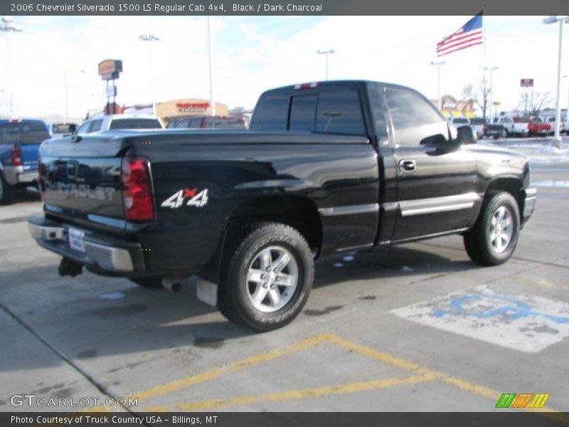
[[[262,94],[246,131],[100,132],[41,146],[31,235],[61,275],[179,288],[272,330],[302,310],[314,259],[461,233],[504,263],[533,212],[528,160],[450,128],[415,90],[370,81]]]

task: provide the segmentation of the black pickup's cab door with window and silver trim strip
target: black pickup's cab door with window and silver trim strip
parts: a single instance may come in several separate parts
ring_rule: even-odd
[[[472,221],[477,168],[469,150],[450,142],[446,120],[413,90],[386,88],[397,173],[392,241],[466,228]]]

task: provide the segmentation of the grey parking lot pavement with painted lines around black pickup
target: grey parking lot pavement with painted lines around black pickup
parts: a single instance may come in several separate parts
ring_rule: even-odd
[[[0,411],[62,409],[14,394],[133,397],[133,411],[494,411],[506,393],[569,411],[569,157],[504,144],[536,159],[539,191],[508,263],[474,265],[459,236],[327,258],[304,312],[265,334],[196,300],[193,279],[172,294],[60,278],[28,235],[36,194],[1,206]]]

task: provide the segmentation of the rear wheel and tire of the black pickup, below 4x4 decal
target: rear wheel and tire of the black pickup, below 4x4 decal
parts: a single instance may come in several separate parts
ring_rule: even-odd
[[[231,322],[260,332],[292,322],[314,281],[312,253],[304,237],[285,224],[260,223],[243,240],[231,243],[229,248],[237,248],[222,270],[220,312]],[[279,285],[284,282],[289,284]]]

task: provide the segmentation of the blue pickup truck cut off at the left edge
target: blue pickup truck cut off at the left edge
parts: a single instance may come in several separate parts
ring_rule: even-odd
[[[0,120],[0,204],[10,204],[18,189],[37,185],[40,144],[49,139],[43,120]]]

